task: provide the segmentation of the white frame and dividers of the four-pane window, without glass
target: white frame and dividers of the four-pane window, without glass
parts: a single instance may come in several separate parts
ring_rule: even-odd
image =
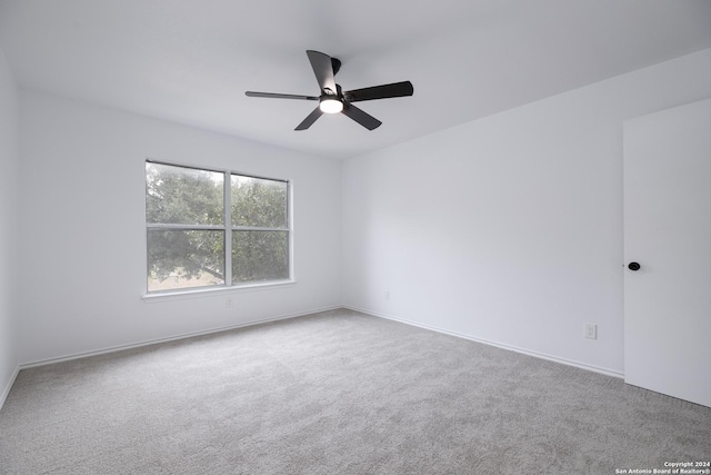
[[[147,216],[148,209],[148,189],[146,187],[146,177],[147,177],[147,166],[149,164],[162,165],[168,167],[177,167],[189,170],[198,170],[198,171],[209,171],[217,172],[222,175],[222,206],[223,206],[223,216],[222,216],[222,225],[184,225],[184,224],[164,224],[164,222],[149,222]],[[244,177],[244,178],[254,178],[260,180],[270,180],[277,181],[287,185],[287,202],[286,202],[286,227],[284,228],[272,228],[272,227],[252,227],[252,226],[233,226],[232,225],[232,177]],[[213,167],[203,167],[197,165],[188,165],[188,164],[179,164],[172,161],[163,161],[156,160],[151,158],[147,158],[143,161],[143,187],[144,187],[144,199],[143,199],[143,221],[146,225],[143,244],[144,244],[144,253],[143,256],[146,258],[144,269],[146,274],[144,278],[144,294],[143,298],[150,299],[153,297],[166,297],[166,296],[190,296],[194,294],[204,294],[204,293],[214,293],[214,291],[224,291],[224,290],[256,290],[256,289],[267,289],[270,287],[278,287],[289,284],[294,284],[294,270],[293,270],[293,181],[291,179],[284,178],[272,178],[264,177],[260,175],[243,172],[234,169],[220,169]],[[163,289],[163,290],[149,290],[149,232],[150,230],[213,230],[213,231],[222,231],[223,232],[223,265],[224,265],[224,283],[208,285],[208,286],[196,286],[196,287],[183,287],[176,289]],[[271,280],[250,280],[250,281],[238,281],[232,283],[232,235],[234,231],[280,231],[287,232],[287,245],[288,245],[288,256],[287,256],[287,266],[288,266],[288,277],[283,279],[271,279]]]

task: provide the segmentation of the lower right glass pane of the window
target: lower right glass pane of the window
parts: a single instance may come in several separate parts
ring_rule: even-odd
[[[289,231],[232,231],[232,283],[289,278]]]

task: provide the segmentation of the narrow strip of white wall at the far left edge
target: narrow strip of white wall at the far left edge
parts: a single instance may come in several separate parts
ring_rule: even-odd
[[[0,407],[18,368],[17,194],[19,181],[18,90],[0,49]]]

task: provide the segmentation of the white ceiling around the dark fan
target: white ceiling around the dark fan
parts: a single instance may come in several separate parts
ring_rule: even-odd
[[[711,48],[711,1],[0,0],[0,47],[26,88],[346,158]],[[297,132],[314,102],[244,91],[317,96],[307,49],[414,96]]]

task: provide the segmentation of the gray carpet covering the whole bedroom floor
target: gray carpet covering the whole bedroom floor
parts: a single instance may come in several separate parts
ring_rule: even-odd
[[[20,372],[3,474],[614,474],[711,458],[711,408],[336,310]]]

